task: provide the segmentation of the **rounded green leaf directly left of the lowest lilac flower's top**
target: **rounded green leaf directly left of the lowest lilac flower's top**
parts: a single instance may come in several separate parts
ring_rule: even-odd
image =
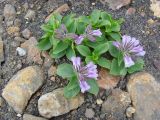
[[[63,63],[57,68],[57,75],[62,78],[70,78],[75,76],[73,66],[71,64]]]

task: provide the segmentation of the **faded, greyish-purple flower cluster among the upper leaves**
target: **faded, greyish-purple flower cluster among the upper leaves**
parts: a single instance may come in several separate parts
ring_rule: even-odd
[[[88,38],[90,41],[94,42],[96,40],[95,37],[100,37],[101,35],[102,33],[100,29],[93,30],[91,25],[87,26],[85,33],[82,35],[77,35],[75,33],[68,33],[68,30],[64,24],[62,24],[59,29],[55,30],[56,38],[61,40],[64,40],[65,38],[71,38],[75,40],[75,43],[77,45],[81,44],[85,38]]]

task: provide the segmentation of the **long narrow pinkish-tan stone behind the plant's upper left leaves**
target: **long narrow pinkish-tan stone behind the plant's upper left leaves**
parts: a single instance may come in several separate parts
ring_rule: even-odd
[[[58,7],[55,11],[53,11],[49,16],[46,17],[45,22],[48,22],[48,20],[50,19],[50,17],[54,14],[54,13],[63,13],[68,11],[70,8],[68,6],[68,4],[64,4],[60,7]]]

